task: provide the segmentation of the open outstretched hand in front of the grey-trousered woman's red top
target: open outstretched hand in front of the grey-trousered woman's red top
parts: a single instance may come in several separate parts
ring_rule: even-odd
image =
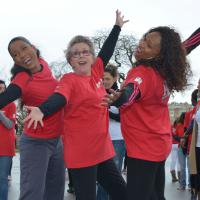
[[[43,127],[43,117],[44,114],[41,112],[41,110],[38,107],[34,106],[24,106],[27,110],[30,111],[28,116],[24,119],[24,122],[28,121],[28,128],[30,128],[33,125],[33,128],[36,129],[38,123]]]

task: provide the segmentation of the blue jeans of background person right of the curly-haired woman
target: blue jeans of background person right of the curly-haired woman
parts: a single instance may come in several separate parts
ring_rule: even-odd
[[[180,186],[185,188],[186,187],[186,169],[188,168],[188,185],[190,185],[190,179],[189,179],[189,164],[188,164],[188,156],[183,154],[182,148],[179,148],[178,151],[178,159],[180,163]]]

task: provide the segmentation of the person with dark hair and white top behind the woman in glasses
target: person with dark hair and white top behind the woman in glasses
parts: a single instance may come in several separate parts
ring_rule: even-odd
[[[104,71],[103,84],[106,88],[106,92],[109,93],[109,90],[118,90],[117,80],[119,77],[117,67],[109,64]],[[123,159],[126,152],[125,142],[121,133],[120,128],[120,113],[119,109],[115,106],[110,106],[109,108],[109,133],[111,140],[115,149],[116,156],[114,157],[115,164],[117,169],[121,173]],[[97,188],[97,200],[108,200],[108,193],[98,185]]]

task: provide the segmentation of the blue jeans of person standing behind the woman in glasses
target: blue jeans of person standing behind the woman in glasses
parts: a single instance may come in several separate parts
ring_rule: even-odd
[[[117,169],[120,171],[122,170],[123,158],[126,153],[126,147],[124,140],[112,140],[116,156],[113,158]],[[108,193],[103,189],[101,185],[98,184],[97,187],[97,200],[109,200]]]

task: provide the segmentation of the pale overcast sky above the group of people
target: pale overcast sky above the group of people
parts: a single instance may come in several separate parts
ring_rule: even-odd
[[[25,36],[48,61],[63,58],[68,41],[77,34],[92,36],[110,29],[115,10],[121,10],[127,23],[122,33],[140,38],[149,28],[175,27],[185,40],[200,27],[199,0],[5,0],[0,5],[0,78],[9,79],[13,64],[7,45],[15,36]],[[190,102],[190,94],[200,77],[200,47],[190,56],[194,84],[184,95],[171,101]]]

